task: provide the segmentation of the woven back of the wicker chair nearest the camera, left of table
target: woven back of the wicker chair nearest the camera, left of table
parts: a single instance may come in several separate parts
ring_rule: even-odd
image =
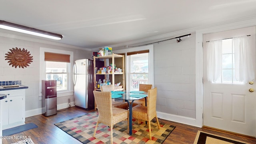
[[[113,118],[111,92],[99,92],[94,90],[93,94],[99,112],[98,120],[110,126]]]

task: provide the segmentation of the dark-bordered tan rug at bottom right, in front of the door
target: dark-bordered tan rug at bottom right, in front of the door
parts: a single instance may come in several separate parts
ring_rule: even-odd
[[[198,130],[194,144],[246,144],[237,140],[224,138]]]

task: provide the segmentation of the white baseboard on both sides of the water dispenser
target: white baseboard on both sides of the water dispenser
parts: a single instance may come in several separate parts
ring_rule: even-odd
[[[74,106],[74,102],[71,102],[70,103],[71,106]],[[61,109],[64,109],[64,108],[68,108],[68,103],[63,103],[63,104],[58,104],[57,105],[57,110],[61,110]],[[25,117],[30,117],[30,116],[36,116],[38,114],[43,114],[43,109],[44,108],[36,108],[34,110],[27,110],[26,113],[25,113]]]

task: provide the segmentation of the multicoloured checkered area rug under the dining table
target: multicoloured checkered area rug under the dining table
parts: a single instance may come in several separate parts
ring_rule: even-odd
[[[55,124],[64,132],[73,136],[83,144],[110,144],[110,128],[99,124],[94,138],[94,128],[98,119],[98,112],[91,112],[70,120]],[[114,144],[162,144],[174,130],[175,126],[160,122],[160,129],[154,120],[151,121],[152,140],[149,140],[148,126],[132,120],[132,136],[127,131],[127,121],[119,122],[113,129]]]

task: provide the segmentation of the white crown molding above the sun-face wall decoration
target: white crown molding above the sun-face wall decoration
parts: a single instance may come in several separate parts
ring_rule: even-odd
[[[71,46],[71,45],[68,45],[68,44],[60,44],[58,42],[50,42],[50,41],[47,41],[47,40],[39,40],[39,39],[35,39],[35,38],[28,38],[28,37],[24,37],[24,36],[17,36],[17,35],[14,35],[14,34],[6,34],[6,33],[2,33],[2,32],[0,32],[0,36],[7,37],[7,38],[15,38],[15,39],[18,39],[18,40],[27,40],[27,41],[31,41],[31,42],[39,42],[39,43],[43,43],[43,44],[51,44],[51,45],[54,45],[54,46],[62,46],[62,47],[66,47],[66,48],[74,48],[74,49],[79,49],[79,50],[91,51],[91,49],[89,49],[89,48]]]

